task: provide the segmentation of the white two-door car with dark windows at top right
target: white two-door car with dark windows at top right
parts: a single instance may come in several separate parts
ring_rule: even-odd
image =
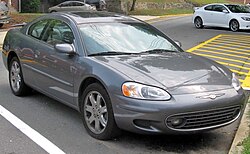
[[[196,28],[215,26],[230,28],[231,31],[250,29],[250,9],[237,4],[208,4],[195,8],[193,23]]]

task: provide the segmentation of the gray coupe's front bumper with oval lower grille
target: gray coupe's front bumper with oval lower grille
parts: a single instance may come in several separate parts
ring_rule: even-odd
[[[240,117],[247,101],[243,90],[211,93],[224,95],[216,99],[199,98],[208,93],[175,95],[170,101],[115,96],[112,100],[115,120],[119,128],[136,133],[182,134],[219,128]],[[181,123],[175,125],[178,120]]]

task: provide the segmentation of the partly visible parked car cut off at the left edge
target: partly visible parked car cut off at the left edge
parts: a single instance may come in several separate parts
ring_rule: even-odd
[[[0,2],[0,27],[4,24],[9,23],[10,17],[8,15],[9,7],[3,1]]]

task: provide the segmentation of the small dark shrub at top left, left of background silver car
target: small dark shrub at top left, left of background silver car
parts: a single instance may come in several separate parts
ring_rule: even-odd
[[[40,0],[22,0],[22,12],[36,13],[39,10]]]

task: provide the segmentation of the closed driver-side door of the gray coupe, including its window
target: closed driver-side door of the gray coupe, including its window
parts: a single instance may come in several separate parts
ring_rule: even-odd
[[[51,20],[42,37],[43,43],[37,47],[37,63],[40,76],[37,78],[42,91],[73,105],[74,61],[76,56],[58,52],[56,44],[74,44],[70,26],[60,20]]]

